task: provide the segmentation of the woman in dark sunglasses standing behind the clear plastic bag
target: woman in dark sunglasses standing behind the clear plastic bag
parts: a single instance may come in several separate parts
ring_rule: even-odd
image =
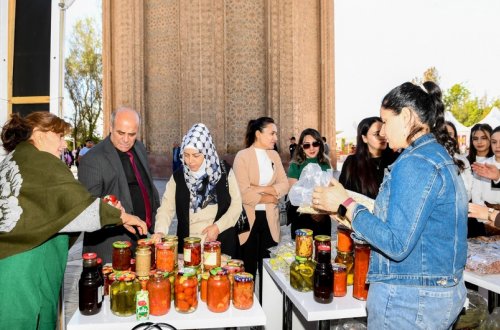
[[[307,128],[302,131],[295,150],[294,157],[288,168],[288,183],[293,186],[300,178],[302,170],[309,164],[318,164],[323,171],[331,168],[330,160],[325,155],[325,145],[321,134]],[[295,230],[301,228],[311,229],[313,235],[331,235],[332,222],[324,214],[299,214],[297,206],[288,206],[288,221],[291,223],[292,239],[295,239]]]

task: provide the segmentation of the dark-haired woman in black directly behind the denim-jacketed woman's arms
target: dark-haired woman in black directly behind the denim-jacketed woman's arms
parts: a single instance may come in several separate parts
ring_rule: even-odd
[[[339,182],[344,188],[372,199],[384,178],[384,171],[391,165],[398,153],[387,147],[387,139],[380,135],[380,117],[368,117],[358,124],[356,153],[347,156]]]

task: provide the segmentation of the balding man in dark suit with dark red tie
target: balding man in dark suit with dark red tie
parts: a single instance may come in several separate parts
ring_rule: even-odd
[[[148,231],[154,230],[156,210],[160,206],[149,169],[146,148],[137,141],[139,114],[130,108],[120,108],[111,114],[109,136],[82,157],[78,180],[96,197],[115,195],[125,211],[146,221]],[[115,241],[131,241],[138,237],[122,226],[103,228],[85,233],[84,252],[96,252],[104,263],[111,262]]]

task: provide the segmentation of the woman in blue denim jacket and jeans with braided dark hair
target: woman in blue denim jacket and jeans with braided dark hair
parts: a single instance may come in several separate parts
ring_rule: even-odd
[[[380,117],[389,146],[405,150],[385,174],[374,214],[337,181],[317,187],[313,203],[345,214],[372,247],[369,328],[448,329],[466,298],[467,193],[441,90],[433,82],[404,83],[384,97]]]

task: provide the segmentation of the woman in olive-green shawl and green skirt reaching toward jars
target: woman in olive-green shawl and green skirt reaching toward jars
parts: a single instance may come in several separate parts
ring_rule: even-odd
[[[48,111],[14,114],[3,126],[8,154],[0,163],[2,329],[56,329],[68,233],[119,224],[146,232],[136,216],[92,197],[59,159],[69,130]]]

